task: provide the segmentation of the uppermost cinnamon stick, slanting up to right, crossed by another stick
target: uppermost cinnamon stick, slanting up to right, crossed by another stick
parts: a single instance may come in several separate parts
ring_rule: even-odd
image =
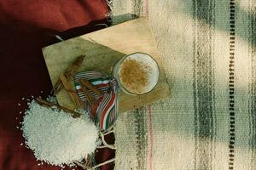
[[[79,71],[83,61],[84,61],[85,55],[79,56],[77,59],[74,60],[74,62],[68,66],[67,71],[65,71],[64,76],[67,78],[67,81],[70,80],[73,75]],[[61,89],[63,88],[63,85],[61,83],[61,79],[59,78],[58,81],[55,83],[55,86],[53,88],[54,94],[58,94]]]

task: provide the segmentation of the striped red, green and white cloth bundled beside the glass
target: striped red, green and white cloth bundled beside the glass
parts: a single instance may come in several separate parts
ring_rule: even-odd
[[[84,101],[85,110],[89,112],[90,118],[94,120],[97,126],[102,131],[108,130],[117,120],[118,105],[119,105],[119,87],[117,81],[113,77],[103,76],[96,71],[85,71],[76,73],[73,77],[77,93]],[[79,80],[87,80],[96,86],[101,94],[95,94],[88,89],[96,101],[92,106],[89,102],[79,84]],[[109,90],[111,89],[111,90]]]

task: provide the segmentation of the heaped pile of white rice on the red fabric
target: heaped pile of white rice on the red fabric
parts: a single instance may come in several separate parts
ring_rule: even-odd
[[[88,116],[73,118],[32,101],[21,130],[26,146],[40,161],[56,166],[82,160],[96,150],[98,131]]]

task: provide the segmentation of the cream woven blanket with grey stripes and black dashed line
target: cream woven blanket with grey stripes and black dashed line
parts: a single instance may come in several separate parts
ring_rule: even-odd
[[[256,169],[256,2],[110,5],[114,24],[148,17],[172,90],[119,116],[115,168]]]

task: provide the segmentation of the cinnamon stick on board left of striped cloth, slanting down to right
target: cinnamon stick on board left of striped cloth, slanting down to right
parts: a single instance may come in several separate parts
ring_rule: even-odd
[[[60,79],[61,79],[61,82],[62,82],[64,88],[67,90],[70,98],[73,100],[75,105],[78,105],[80,108],[84,109],[83,102],[79,98],[78,94],[73,90],[73,88],[71,87],[71,85],[67,81],[67,78],[63,74],[61,74]]]

